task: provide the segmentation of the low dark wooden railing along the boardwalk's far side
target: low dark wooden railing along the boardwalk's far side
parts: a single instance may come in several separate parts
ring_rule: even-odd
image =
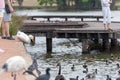
[[[84,21],[85,18],[87,19],[96,19],[99,21],[99,19],[103,18],[103,16],[100,15],[40,15],[40,16],[28,16],[27,19],[30,20],[36,20],[36,19],[47,19],[47,21],[51,21],[52,18],[60,18],[64,19],[65,21],[68,21],[70,18],[76,18],[81,19],[81,21]]]

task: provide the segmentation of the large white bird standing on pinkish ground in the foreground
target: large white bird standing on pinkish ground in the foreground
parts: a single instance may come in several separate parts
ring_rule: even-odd
[[[0,69],[0,73],[11,72],[11,76],[16,80],[18,72],[26,68],[26,61],[22,56],[13,56],[6,60]]]

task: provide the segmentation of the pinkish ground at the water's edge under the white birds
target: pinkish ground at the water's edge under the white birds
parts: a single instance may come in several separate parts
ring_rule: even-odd
[[[27,61],[27,67],[32,62],[31,56],[27,54],[22,42],[18,40],[0,39],[0,67],[12,56],[23,56]],[[22,73],[23,71],[17,75],[17,80],[34,80],[31,75],[23,75]],[[0,80],[13,80],[13,77],[11,77],[10,73],[4,72],[0,74]]]

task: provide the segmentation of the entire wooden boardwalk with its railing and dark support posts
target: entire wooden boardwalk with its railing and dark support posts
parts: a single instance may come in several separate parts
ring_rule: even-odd
[[[64,21],[51,21],[51,18],[64,18]],[[81,21],[69,21],[69,18],[81,18]],[[36,18],[47,18],[47,21],[37,21]],[[83,21],[84,18],[94,18],[96,21]],[[120,38],[120,23],[112,22],[111,29],[105,30],[103,23],[99,21],[101,16],[32,16],[24,21],[21,30],[28,34],[37,35],[44,33],[46,36],[47,52],[52,52],[52,38],[78,38],[94,40],[98,44],[103,40],[103,48],[110,50],[109,44],[116,45],[116,39]],[[109,42],[111,39],[111,43]],[[85,43],[85,42],[83,42]]]

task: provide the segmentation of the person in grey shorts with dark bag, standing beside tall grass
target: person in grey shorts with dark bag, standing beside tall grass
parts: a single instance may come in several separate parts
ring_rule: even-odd
[[[4,17],[3,17],[3,23],[2,23],[2,39],[13,39],[10,36],[10,32],[9,32],[9,27],[10,27],[10,21],[11,21],[11,17],[12,17],[12,13],[14,12],[14,9],[12,7],[12,3],[13,0],[5,0],[5,5],[8,5],[8,8],[10,10],[10,13],[7,13],[6,10],[4,12]]]

